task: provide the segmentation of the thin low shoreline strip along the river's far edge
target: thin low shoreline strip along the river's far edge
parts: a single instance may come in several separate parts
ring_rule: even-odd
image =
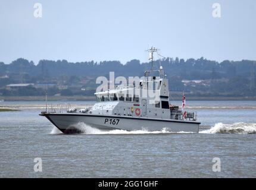
[[[48,96],[48,101],[95,101],[95,96]],[[171,97],[170,100],[179,101],[182,97],[177,96]],[[0,96],[0,100],[7,102],[18,102],[18,101],[45,101],[45,96]],[[196,100],[196,101],[214,101],[214,100],[256,100],[256,96],[251,97],[225,97],[225,96],[186,96],[186,100]],[[0,102],[4,103],[4,102]]]

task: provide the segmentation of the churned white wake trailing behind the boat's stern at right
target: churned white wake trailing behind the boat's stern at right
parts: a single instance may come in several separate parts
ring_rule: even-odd
[[[256,124],[235,123],[235,124],[215,124],[212,128],[199,133],[206,134],[256,134]]]

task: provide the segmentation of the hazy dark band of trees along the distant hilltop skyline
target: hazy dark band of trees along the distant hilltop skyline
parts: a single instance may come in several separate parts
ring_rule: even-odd
[[[255,68],[255,61],[210,61],[204,58],[200,59],[173,59],[166,58],[161,60],[166,74],[169,76],[179,76],[184,80],[205,80],[211,78],[230,78],[235,76],[248,77],[251,75],[251,69]],[[155,61],[155,65],[160,65],[160,60]],[[24,72],[31,76],[43,75],[43,77],[58,77],[60,75],[106,75],[114,71],[117,75],[139,76],[143,75],[145,69],[151,67],[150,62],[140,63],[133,59],[125,65],[120,61],[102,61],[102,62],[67,62],[65,60],[49,61],[41,60],[38,65],[33,61],[19,58],[11,64],[0,62],[0,75],[20,74]]]

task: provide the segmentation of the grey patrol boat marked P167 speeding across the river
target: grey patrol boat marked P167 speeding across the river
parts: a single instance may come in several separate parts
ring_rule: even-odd
[[[170,132],[198,132],[200,122],[196,121],[196,112],[184,112],[179,106],[170,105],[168,79],[163,66],[153,69],[153,54],[157,49],[152,47],[148,52],[151,70],[145,71],[138,84],[121,84],[114,89],[96,92],[95,105],[80,110],[70,107],[64,112],[50,111],[46,103],[46,110],[40,115],[64,134],[82,132],[80,124],[107,131],[165,129]],[[149,91],[154,96],[148,96]]]

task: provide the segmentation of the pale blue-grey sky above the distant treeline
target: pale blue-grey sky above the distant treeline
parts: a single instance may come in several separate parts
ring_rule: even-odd
[[[36,18],[34,5],[42,5]],[[213,4],[220,17],[213,17]],[[256,60],[255,0],[1,0],[0,62],[25,58],[145,62],[161,55]]]

